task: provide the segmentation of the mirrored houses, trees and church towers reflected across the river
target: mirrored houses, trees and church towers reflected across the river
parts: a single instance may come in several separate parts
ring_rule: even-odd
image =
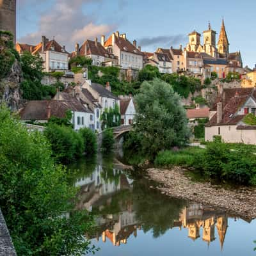
[[[216,240],[223,248],[228,218],[234,216],[161,195],[149,188],[148,180],[133,179],[129,172],[122,170],[122,164],[115,164],[111,157],[98,156],[72,168],[80,170],[74,179],[74,184],[81,188],[77,208],[97,216],[97,228],[91,239],[121,246],[148,231],[157,238],[174,228],[186,230],[194,241],[210,244]]]

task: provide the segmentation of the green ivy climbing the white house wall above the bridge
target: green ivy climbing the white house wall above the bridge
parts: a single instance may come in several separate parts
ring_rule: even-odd
[[[121,114],[117,104],[114,108],[104,109],[104,112],[100,116],[102,121],[102,130],[120,126],[121,125]]]

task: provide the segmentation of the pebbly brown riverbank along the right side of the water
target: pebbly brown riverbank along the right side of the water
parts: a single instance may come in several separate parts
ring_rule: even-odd
[[[230,214],[238,214],[243,218],[256,218],[256,189],[240,187],[225,189],[209,182],[194,182],[186,175],[186,170],[175,166],[170,170],[150,168],[148,178],[159,182],[156,188],[161,193],[200,204],[212,205],[225,209]]]

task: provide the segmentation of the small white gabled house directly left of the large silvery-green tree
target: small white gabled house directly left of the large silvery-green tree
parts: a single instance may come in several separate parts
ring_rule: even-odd
[[[120,98],[120,113],[121,113],[121,124],[131,125],[133,124],[136,109],[134,101],[131,97]]]

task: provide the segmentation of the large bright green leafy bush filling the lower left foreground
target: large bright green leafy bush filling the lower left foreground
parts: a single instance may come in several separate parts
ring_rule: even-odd
[[[76,189],[68,185],[65,168],[54,164],[42,134],[28,133],[3,107],[0,159],[0,205],[17,255],[90,250],[84,233],[92,227],[92,216],[73,210]]]

